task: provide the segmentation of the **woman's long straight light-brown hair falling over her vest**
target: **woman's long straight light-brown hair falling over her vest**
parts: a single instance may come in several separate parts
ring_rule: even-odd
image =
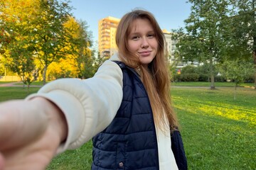
[[[128,36],[132,31],[132,23],[138,18],[147,19],[151,23],[158,42],[156,57],[154,57],[154,60],[147,66],[140,64],[139,57],[130,52],[127,47]],[[178,127],[178,121],[171,107],[171,81],[168,69],[169,62],[166,56],[165,38],[154,15],[149,11],[141,9],[125,14],[117,27],[115,40],[119,50],[118,55],[120,60],[127,64],[127,66],[139,70],[142,83],[149,95],[156,126],[159,127],[160,130],[164,130],[165,128],[175,130]],[[169,125],[166,124],[165,118],[168,118]]]

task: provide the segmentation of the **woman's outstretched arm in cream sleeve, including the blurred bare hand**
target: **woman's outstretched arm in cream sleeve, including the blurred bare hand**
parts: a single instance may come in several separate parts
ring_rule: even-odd
[[[0,103],[0,170],[45,169],[104,130],[121,101],[122,70],[106,61],[92,79],[58,79],[24,101]]]

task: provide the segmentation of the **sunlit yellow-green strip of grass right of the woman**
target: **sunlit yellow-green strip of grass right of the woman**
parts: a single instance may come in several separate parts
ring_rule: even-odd
[[[196,93],[196,89],[194,89],[193,91]],[[253,97],[254,95],[256,102],[256,91],[251,90],[250,94],[247,92],[248,91],[243,91],[243,93],[247,94],[248,97]],[[196,94],[201,97],[190,99],[189,94],[185,97],[173,96],[173,100],[178,103],[178,105],[176,105],[176,108],[186,108],[186,110],[190,111],[191,113],[203,115],[218,115],[224,118],[229,118],[232,120],[242,120],[252,123],[252,125],[256,125],[256,105],[254,107],[245,108],[243,104],[240,104],[240,102],[242,101],[242,97],[238,98],[238,101],[234,101],[232,97],[232,89],[221,89],[220,91],[203,90],[200,91],[200,93]],[[215,98],[216,96],[218,96],[219,101],[213,100],[213,98],[203,97],[206,94],[210,94],[209,96],[214,95]],[[224,97],[223,94],[225,94],[226,96]],[[242,101],[242,103],[246,103],[246,101]],[[197,109],[191,106],[196,106]]]

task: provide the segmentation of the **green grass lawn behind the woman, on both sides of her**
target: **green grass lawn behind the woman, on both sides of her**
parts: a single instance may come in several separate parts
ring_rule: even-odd
[[[37,91],[31,88],[29,93]],[[238,88],[173,88],[188,169],[256,169],[256,91]],[[24,98],[19,87],[0,87],[0,101]],[[50,169],[90,169],[92,143],[58,155]]]

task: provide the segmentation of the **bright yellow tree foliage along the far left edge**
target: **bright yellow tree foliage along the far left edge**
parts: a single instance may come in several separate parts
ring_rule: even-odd
[[[4,66],[21,77],[24,84],[33,81],[33,49],[29,32],[33,20],[36,1],[13,1],[1,3],[1,54],[5,57]]]

